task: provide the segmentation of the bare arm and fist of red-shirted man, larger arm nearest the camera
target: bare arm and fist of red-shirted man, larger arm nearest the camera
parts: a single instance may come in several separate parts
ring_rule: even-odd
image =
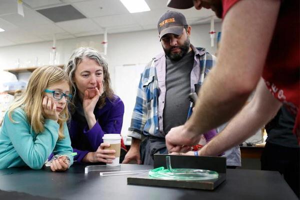
[[[261,76],[279,5],[279,0],[241,0],[227,12],[216,66],[190,119],[167,133],[169,151],[188,150],[200,134],[228,121],[244,105]]]

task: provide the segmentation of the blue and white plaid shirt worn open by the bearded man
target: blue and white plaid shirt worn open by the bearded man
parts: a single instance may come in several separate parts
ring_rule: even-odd
[[[215,64],[215,56],[204,48],[195,48],[190,72],[190,91],[194,84],[202,85],[204,77]],[[141,139],[141,134],[165,137],[162,112],[165,101],[165,54],[155,56],[141,73],[128,136]]]

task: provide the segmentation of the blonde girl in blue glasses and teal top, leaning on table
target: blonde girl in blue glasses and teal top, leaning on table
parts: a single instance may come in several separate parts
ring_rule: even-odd
[[[8,108],[0,130],[0,168],[40,169],[48,156],[72,152],[66,120],[70,100],[67,74],[56,66],[35,69],[25,92]],[[64,171],[73,159],[60,156],[52,171]]]

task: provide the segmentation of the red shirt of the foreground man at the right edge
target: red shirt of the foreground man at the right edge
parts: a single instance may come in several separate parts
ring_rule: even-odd
[[[239,0],[222,0],[224,18]],[[280,5],[262,77],[275,98],[287,105],[296,116],[294,133],[299,133],[299,0],[283,0]]]

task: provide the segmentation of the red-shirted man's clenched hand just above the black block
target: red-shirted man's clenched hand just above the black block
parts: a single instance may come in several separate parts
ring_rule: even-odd
[[[173,127],[165,136],[165,144],[169,152],[187,152],[191,146],[201,139],[201,134],[188,131],[184,125]]]

